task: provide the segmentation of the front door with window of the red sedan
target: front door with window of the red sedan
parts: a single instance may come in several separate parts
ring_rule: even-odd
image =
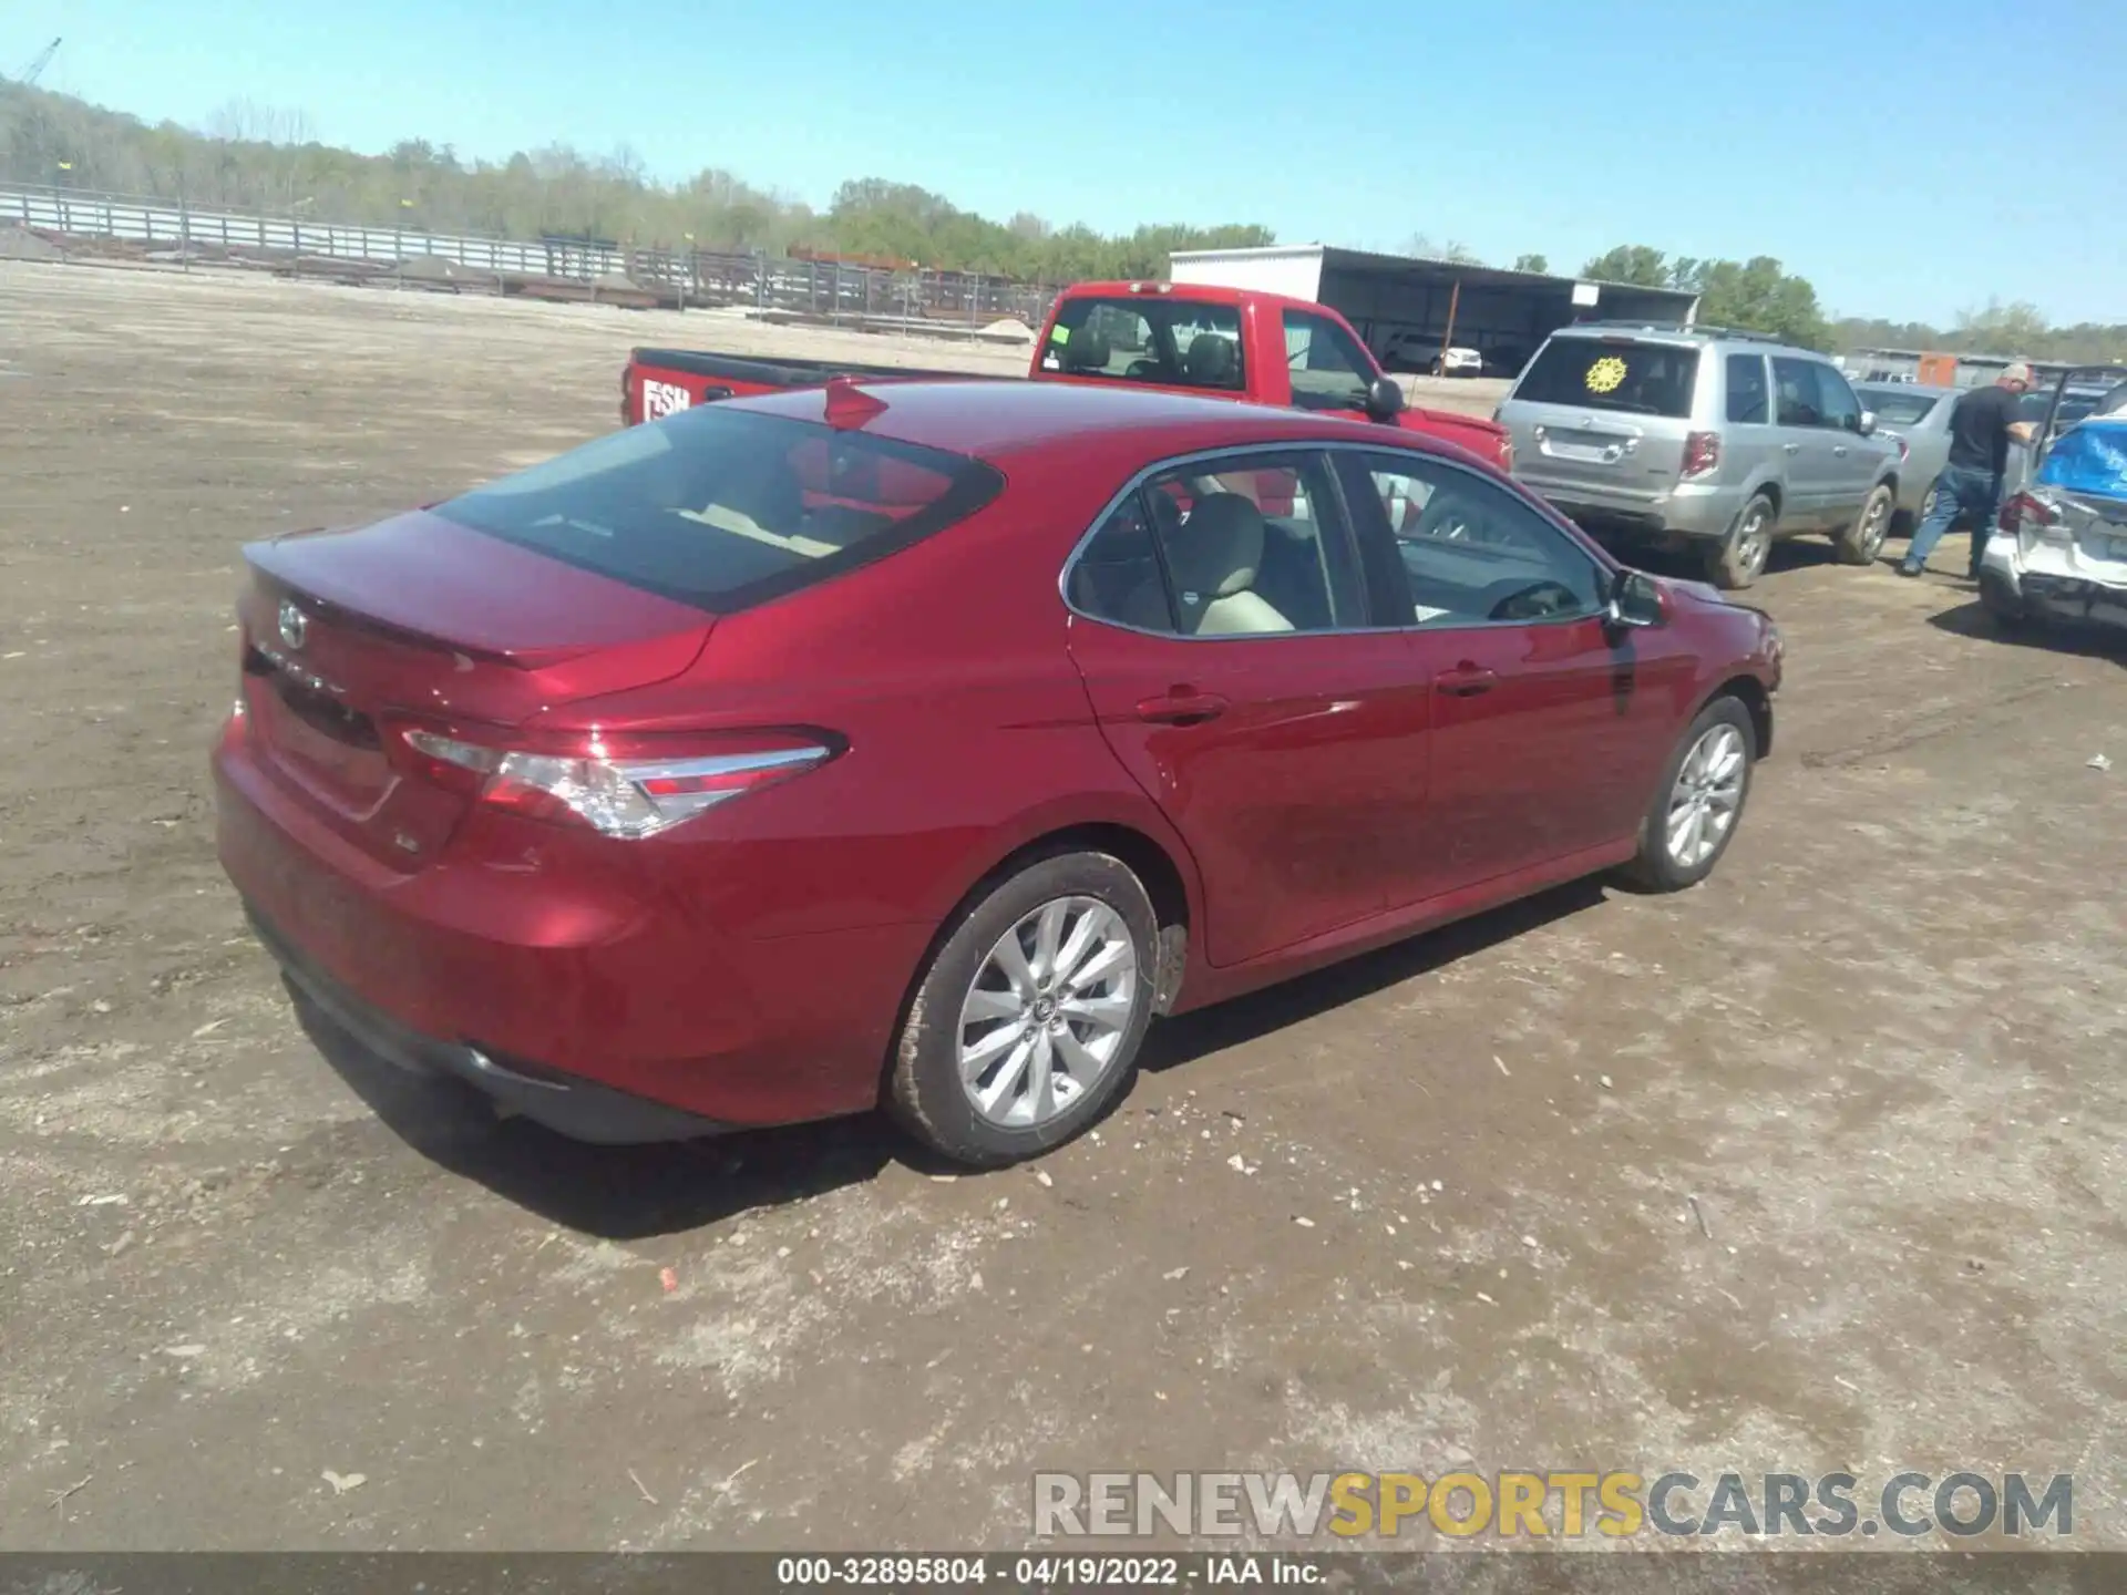
[[[1506,487],[1434,455],[1342,459],[1361,540],[1408,585],[1404,640],[1434,691],[1431,889],[1629,836],[1689,655],[1653,629],[1612,636],[1606,568]]]

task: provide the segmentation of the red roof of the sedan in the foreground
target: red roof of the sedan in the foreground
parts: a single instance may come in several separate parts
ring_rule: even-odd
[[[1002,464],[1070,442],[1134,442],[1146,457],[1253,442],[1357,440],[1385,449],[1448,453],[1412,432],[1240,400],[1198,398],[1155,387],[1025,381],[1010,376],[840,383],[883,408],[853,430],[925,449]],[[785,389],[721,400],[759,415],[827,421],[830,389]]]

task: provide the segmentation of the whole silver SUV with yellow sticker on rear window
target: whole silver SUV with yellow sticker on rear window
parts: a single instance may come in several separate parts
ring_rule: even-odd
[[[1514,474],[1559,510],[1595,536],[1697,544],[1719,587],[1748,587],[1802,532],[1865,566],[1897,510],[1897,440],[1840,370],[1751,332],[1561,328],[1497,421]]]

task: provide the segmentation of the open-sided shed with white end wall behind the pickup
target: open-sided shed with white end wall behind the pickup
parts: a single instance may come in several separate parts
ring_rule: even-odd
[[[1176,283],[1261,289],[1314,300],[1351,321],[1376,357],[1391,345],[1476,349],[1517,368],[1572,321],[1691,321],[1697,296],[1593,283],[1500,266],[1376,255],[1334,245],[1185,249],[1168,257]]]

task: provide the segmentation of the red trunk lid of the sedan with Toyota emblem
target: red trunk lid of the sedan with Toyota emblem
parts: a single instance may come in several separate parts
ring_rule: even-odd
[[[419,868],[466,797],[408,727],[513,727],[685,672],[715,617],[436,515],[245,549],[242,704],[259,761],[364,853]]]

